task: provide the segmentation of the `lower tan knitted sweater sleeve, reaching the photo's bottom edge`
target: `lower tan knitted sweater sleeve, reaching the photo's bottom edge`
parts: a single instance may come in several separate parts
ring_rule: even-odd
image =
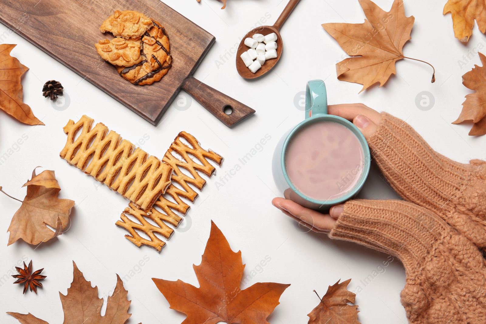
[[[404,201],[352,200],[330,237],[399,257],[410,324],[486,323],[485,260],[433,212]]]

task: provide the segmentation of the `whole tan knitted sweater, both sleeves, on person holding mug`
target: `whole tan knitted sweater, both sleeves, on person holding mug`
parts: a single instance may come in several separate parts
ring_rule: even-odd
[[[486,324],[486,162],[452,161],[386,113],[368,144],[405,201],[351,200],[330,236],[399,257],[410,324]]]

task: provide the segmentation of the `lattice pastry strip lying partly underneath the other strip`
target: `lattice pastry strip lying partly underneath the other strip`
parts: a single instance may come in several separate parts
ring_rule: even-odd
[[[181,138],[184,138],[191,147],[186,145]],[[177,155],[180,158],[177,158]],[[194,162],[191,156],[199,161],[199,163]],[[130,232],[130,235],[125,235],[125,238],[137,246],[141,246],[142,244],[147,245],[160,252],[166,243],[154,233],[158,233],[166,239],[172,236],[174,229],[167,226],[164,222],[168,222],[174,227],[177,227],[182,221],[182,218],[174,211],[185,215],[190,205],[186,204],[181,198],[185,198],[193,203],[198,196],[198,193],[191,188],[190,184],[201,190],[206,184],[206,180],[198,172],[204,173],[209,177],[216,170],[208,162],[208,159],[216,162],[218,165],[221,165],[223,162],[221,155],[201,148],[194,136],[186,132],[180,132],[162,159],[164,163],[167,163],[174,169],[171,178],[172,184],[167,188],[165,194],[158,197],[154,207],[151,209],[151,213],[146,213],[133,204],[129,204],[125,208],[121,214],[121,221],[116,222],[118,226]],[[181,168],[189,171],[191,176],[182,172]],[[178,186],[174,186],[174,183]],[[173,199],[174,201],[169,199]],[[139,222],[133,222],[127,215],[136,218]],[[145,218],[152,220],[157,226],[147,222]],[[142,238],[137,231],[145,233],[150,239]]]

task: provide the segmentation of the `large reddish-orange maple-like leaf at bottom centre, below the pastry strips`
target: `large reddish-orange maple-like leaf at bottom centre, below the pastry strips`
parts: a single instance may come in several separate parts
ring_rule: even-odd
[[[259,282],[240,290],[244,266],[241,251],[233,252],[211,221],[211,234],[201,264],[193,266],[199,288],[181,280],[152,280],[171,308],[187,315],[183,324],[268,324],[266,318],[290,285]]]

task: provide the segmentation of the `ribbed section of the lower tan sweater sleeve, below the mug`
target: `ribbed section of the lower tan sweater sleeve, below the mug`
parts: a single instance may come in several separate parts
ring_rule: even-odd
[[[398,256],[407,271],[419,271],[449,232],[450,226],[440,217],[412,203],[351,200],[344,205],[330,237]]]

